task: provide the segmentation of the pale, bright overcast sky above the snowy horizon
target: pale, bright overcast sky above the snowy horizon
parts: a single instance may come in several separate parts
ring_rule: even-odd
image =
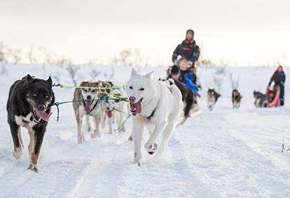
[[[289,0],[0,0],[0,40],[46,46],[73,59],[109,63],[138,48],[152,66],[171,62],[192,28],[203,56],[239,66],[290,66]]]

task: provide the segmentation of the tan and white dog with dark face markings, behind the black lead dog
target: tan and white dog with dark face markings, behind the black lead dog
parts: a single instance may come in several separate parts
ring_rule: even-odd
[[[101,114],[101,102],[105,94],[101,93],[100,87],[102,82],[89,82],[83,81],[80,83],[80,87],[76,88],[73,93],[73,110],[75,111],[75,120],[78,125],[78,143],[84,141],[84,133],[82,132],[82,118],[86,116],[87,131],[91,131],[91,125],[89,124],[89,116],[93,117],[93,123],[95,130],[91,134],[91,138],[100,136],[100,114]]]

